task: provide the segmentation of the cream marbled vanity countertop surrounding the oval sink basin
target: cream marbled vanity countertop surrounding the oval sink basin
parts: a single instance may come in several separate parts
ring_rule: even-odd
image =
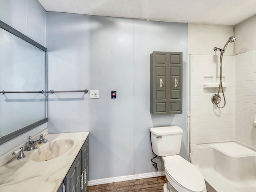
[[[74,145],[66,153],[52,160],[35,162],[34,152],[24,151],[23,159],[14,159],[0,167],[0,192],[56,192],[80,151],[89,132],[48,134],[48,142],[71,138]],[[44,144],[39,144],[41,146]]]

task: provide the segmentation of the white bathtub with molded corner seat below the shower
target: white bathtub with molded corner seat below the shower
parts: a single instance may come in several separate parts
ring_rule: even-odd
[[[256,192],[256,151],[237,142],[191,145],[208,192]]]

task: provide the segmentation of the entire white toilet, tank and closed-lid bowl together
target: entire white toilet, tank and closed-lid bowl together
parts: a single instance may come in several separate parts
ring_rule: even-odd
[[[150,132],[153,152],[164,161],[168,180],[164,192],[207,192],[199,170],[179,156],[182,129],[178,126],[152,127]]]

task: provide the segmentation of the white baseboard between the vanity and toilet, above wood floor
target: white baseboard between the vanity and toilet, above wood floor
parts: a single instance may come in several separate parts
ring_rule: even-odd
[[[135,180],[135,179],[150,178],[150,177],[159,177],[159,176],[164,176],[164,175],[165,175],[164,171],[160,171],[160,172],[151,172],[151,173],[127,175],[127,176],[120,176],[120,177],[111,177],[111,178],[105,178],[105,179],[96,179],[96,180],[90,180],[88,182],[88,186],[100,185],[100,184],[106,184],[106,183],[114,183],[114,182],[120,182],[120,181],[129,181],[129,180]]]

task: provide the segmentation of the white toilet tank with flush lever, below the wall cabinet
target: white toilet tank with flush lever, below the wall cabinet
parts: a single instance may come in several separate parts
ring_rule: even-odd
[[[180,154],[182,129],[178,126],[152,127],[151,144],[154,154],[171,156]]]

